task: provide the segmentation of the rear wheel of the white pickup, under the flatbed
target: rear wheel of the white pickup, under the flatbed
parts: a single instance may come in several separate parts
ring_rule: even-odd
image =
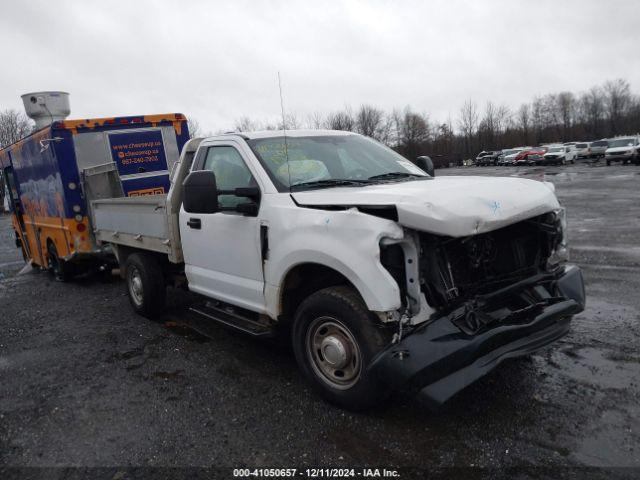
[[[157,259],[148,253],[132,253],[125,265],[131,306],[142,316],[157,317],[164,309],[167,289]]]

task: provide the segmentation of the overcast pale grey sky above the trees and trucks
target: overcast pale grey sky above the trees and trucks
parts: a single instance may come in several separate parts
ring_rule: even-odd
[[[627,79],[640,93],[640,1],[30,1],[0,6],[0,109],[64,90],[71,117],[182,112],[204,130],[241,116],[345,104],[455,122],[466,98]]]

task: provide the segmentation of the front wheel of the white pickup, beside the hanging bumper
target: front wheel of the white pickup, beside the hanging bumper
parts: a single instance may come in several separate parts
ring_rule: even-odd
[[[364,410],[387,397],[367,367],[391,334],[353,289],[330,287],[310,295],[296,311],[292,337],[298,365],[328,401]]]

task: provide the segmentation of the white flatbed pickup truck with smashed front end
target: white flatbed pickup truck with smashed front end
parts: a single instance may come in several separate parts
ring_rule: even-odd
[[[585,293],[552,184],[417,164],[346,132],[193,139],[167,195],[92,202],[94,233],[143,315],[186,286],[209,322],[290,335],[334,403],[439,405],[566,334]]]

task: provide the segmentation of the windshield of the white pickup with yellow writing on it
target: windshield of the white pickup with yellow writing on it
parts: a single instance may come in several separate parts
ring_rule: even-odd
[[[360,135],[287,137],[288,155],[284,137],[247,143],[280,192],[429,178],[403,156]]]

